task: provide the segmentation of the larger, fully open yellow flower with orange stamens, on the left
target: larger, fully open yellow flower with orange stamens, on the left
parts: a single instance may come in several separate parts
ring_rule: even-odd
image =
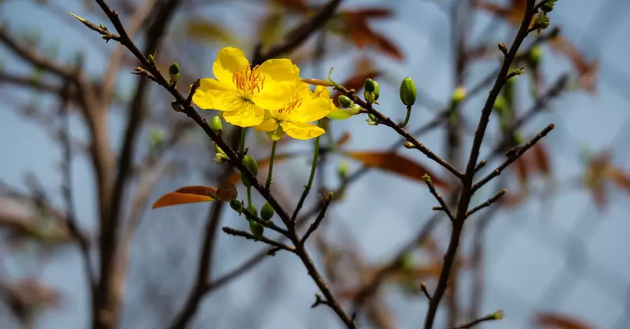
[[[269,59],[251,69],[243,51],[232,47],[221,49],[212,71],[216,78],[201,80],[193,102],[223,111],[225,121],[240,127],[260,125],[265,109],[288,104],[300,76],[290,59]]]

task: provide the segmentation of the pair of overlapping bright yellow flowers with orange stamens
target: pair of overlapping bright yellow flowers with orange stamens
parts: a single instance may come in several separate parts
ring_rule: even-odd
[[[324,133],[311,124],[335,109],[326,87],[311,91],[290,59],[269,59],[251,67],[244,52],[226,47],[214,61],[215,78],[204,78],[193,102],[223,112],[232,125],[267,132],[274,141],[285,134],[312,139]]]

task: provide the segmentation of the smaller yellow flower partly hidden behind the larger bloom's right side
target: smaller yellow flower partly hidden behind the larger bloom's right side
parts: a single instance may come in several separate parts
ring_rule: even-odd
[[[326,87],[317,86],[311,92],[306,83],[297,83],[290,102],[280,109],[265,111],[265,120],[254,127],[267,132],[272,139],[279,139],[285,133],[294,139],[311,139],[325,131],[309,122],[319,120],[330,113],[335,105]]]

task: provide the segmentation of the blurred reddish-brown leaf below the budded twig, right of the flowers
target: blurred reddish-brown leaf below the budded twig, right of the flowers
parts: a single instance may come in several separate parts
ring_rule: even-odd
[[[420,165],[409,158],[389,151],[358,151],[346,152],[346,156],[361,162],[366,167],[373,167],[398,174],[399,176],[413,179],[414,181],[424,182],[423,176],[427,174],[431,177],[431,181],[437,187],[449,189],[446,181],[429,172],[426,167]]]

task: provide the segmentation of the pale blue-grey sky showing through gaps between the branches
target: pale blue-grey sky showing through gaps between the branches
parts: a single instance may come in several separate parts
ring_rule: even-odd
[[[0,6],[0,18],[8,22],[12,31],[38,29],[45,44],[50,43],[50,47],[54,43],[59,44],[61,58],[69,57],[74,50],[85,49],[87,71],[94,75],[102,72],[107,59],[102,50],[113,49],[111,43],[97,48],[94,43],[94,40],[99,41],[97,35],[81,33],[79,25],[68,24],[59,15],[50,15],[50,12],[32,1],[5,2]],[[381,6],[383,3],[388,1],[349,0],[344,8]],[[412,76],[421,94],[425,95],[426,99],[419,100],[421,106],[416,106],[409,123],[409,127],[418,127],[430,120],[435,111],[423,104],[437,102],[443,106],[447,104],[453,89],[449,25],[444,13],[433,1],[400,0],[392,6],[396,13],[395,20],[379,22],[374,27],[384,31],[400,46],[406,60],[395,62],[378,57],[379,66],[386,69],[395,80]],[[552,24],[559,25],[589,59],[599,58],[602,63],[597,83],[598,93],[595,96],[583,92],[563,94],[552,102],[549,111],[528,123],[522,132],[525,136],[533,136],[549,123],[556,125],[556,129],[545,139],[545,145],[552,150],[552,172],[556,181],[566,181],[580,175],[583,167],[580,152],[584,148],[593,151],[612,150],[615,165],[630,172],[630,154],[626,152],[625,146],[625,141],[630,138],[630,117],[627,113],[629,99],[624,94],[630,87],[630,79],[627,78],[630,69],[623,65],[625,54],[630,51],[630,45],[624,42],[630,31],[630,20],[626,19],[629,17],[628,7],[623,0],[560,0],[552,12]],[[85,10],[80,1],[68,0],[64,8],[98,22],[99,18],[82,14]],[[207,15],[223,22],[240,22],[232,25],[238,31],[247,33],[250,30],[241,15],[251,13],[251,7],[226,3],[218,8]],[[488,16],[477,16],[473,40],[481,38],[478,34],[484,31],[488,22]],[[488,41],[509,44],[512,36],[508,33],[507,29],[502,29]],[[208,52],[209,60],[214,59],[216,49],[209,48]],[[2,48],[0,54],[3,68],[16,73],[29,73],[27,66],[8,57],[6,49]],[[349,73],[347,63],[355,58],[356,53],[332,56],[323,66],[335,67],[333,78],[344,77]],[[474,85],[493,65],[491,62],[472,65],[467,87]],[[565,60],[548,51],[545,52],[542,65],[548,83],[570,70]],[[323,78],[323,72],[311,68],[302,69],[302,76],[304,74]],[[135,79],[125,76],[125,73],[121,73],[120,77],[123,90]],[[397,88],[397,85],[383,85],[379,102],[384,114],[402,119],[404,108],[398,104]],[[54,104],[46,97],[34,97],[24,90],[11,88],[10,91],[18,99]],[[484,101],[484,93],[480,94],[481,97],[475,97],[465,106],[471,124],[477,122]],[[0,154],[3,155],[0,179],[20,186],[24,172],[34,172],[43,186],[56,188],[59,186],[59,174],[55,163],[60,156],[57,144],[38,125],[15,115],[15,102],[8,102],[10,99],[6,96],[3,98],[6,102],[0,104]],[[161,97],[155,97],[153,102],[161,100]],[[531,105],[531,100],[524,99],[521,103],[522,109],[526,109]],[[118,116],[113,116],[110,125],[113,143],[120,140],[122,124]],[[381,149],[397,139],[395,133],[386,127],[367,126],[361,118],[335,123],[333,126],[336,136],[343,130],[351,131],[353,137],[345,146],[349,150]],[[73,134],[85,136],[79,122],[73,123]],[[488,136],[491,139],[496,134]],[[470,140],[468,134],[465,148],[470,147]],[[444,149],[443,132],[426,134],[421,142],[441,153]],[[291,147],[310,146],[304,145]],[[489,152],[492,144],[486,142],[484,145],[482,157]],[[404,154],[440,173],[440,168],[421,154],[406,150]],[[332,157],[332,163],[339,160],[337,156]],[[276,183],[289,186],[289,195],[300,193],[301,181],[307,179],[307,162],[286,162],[274,169],[274,172],[282,174]],[[352,162],[350,165],[351,168],[358,167]],[[490,165],[492,163],[489,168]],[[73,175],[78,218],[83,227],[94,228],[95,195],[89,183],[92,181],[89,163],[85,159],[74,161]],[[335,165],[326,168],[326,179],[329,183],[335,182]],[[300,183],[295,183],[298,181]],[[482,202],[484,196],[492,195],[503,187],[497,186],[497,182],[493,181],[489,188],[482,190],[473,203]],[[173,184],[160,184],[155,197],[178,187]],[[181,181],[176,184],[181,184]],[[545,188],[541,181],[535,182],[535,185],[538,190]],[[487,261],[484,265],[486,285],[482,313],[503,309],[506,317],[500,323],[486,324],[486,328],[529,328],[533,314],[550,310],[578,316],[599,329],[630,328],[630,262],[627,260],[628,248],[625,244],[626,232],[630,230],[626,215],[630,211],[630,196],[614,188],[608,196],[610,207],[605,212],[597,211],[584,189],[560,191],[546,204],[540,202],[540,197],[533,197],[520,207],[499,212],[485,233]],[[260,199],[258,203],[262,204]],[[425,186],[374,171],[354,183],[347,191],[344,202],[330,209],[327,237],[339,241],[350,235],[363,260],[377,264],[391,257],[415,235],[430,216],[429,209],[434,205],[435,200]],[[138,307],[137,303],[141,302],[142,297],[134,295],[137,290],[147,290],[146,287],[136,286],[137,282],[142,281],[139,278],[159,277],[159,272],[165,270],[176,271],[178,279],[169,284],[164,283],[166,287],[160,286],[160,282],[156,283],[154,293],[166,291],[176,294],[177,297],[170,302],[176,309],[181,307],[194,272],[199,241],[199,237],[191,236],[190,231],[191,228],[202,228],[207,209],[207,204],[197,204],[187,209],[174,207],[148,214],[150,220],[144,221],[138,232],[138,239],[144,243],[138,242],[137,248],[134,248],[126,309],[133,309],[134,305]],[[471,219],[476,221],[478,218]],[[236,216],[227,216],[224,223],[245,228],[244,221],[238,220]],[[164,230],[158,228],[169,228],[173,233],[165,235]],[[472,225],[466,228],[470,230]],[[446,246],[448,233],[448,223],[444,221],[435,235],[442,248]],[[470,251],[470,235],[464,237],[462,246],[464,250]],[[228,272],[260,247],[260,244],[251,241],[221,234],[216,251],[216,275]],[[311,245],[311,248],[314,246]],[[171,268],[172,263],[167,263],[173,259],[179,261],[176,269]],[[160,262],[164,263],[160,265]],[[20,276],[32,266],[27,255],[24,255],[13,259],[10,273]],[[145,267],[149,269],[148,272]],[[78,252],[74,249],[57,255],[47,265],[42,274],[43,281],[62,290],[66,294],[66,302],[61,310],[47,312],[38,322],[38,328],[84,328],[87,323],[87,295],[81,271]],[[464,274],[463,282],[470,281],[470,276]],[[267,285],[277,285],[279,290],[275,293],[267,291]],[[339,322],[329,309],[309,308],[314,293],[316,286],[295,256],[279,254],[266,260],[255,271],[241,276],[230,286],[207,297],[202,304],[203,311],[197,316],[197,323],[200,324],[199,328],[205,328],[204,325],[209,323],[212,328],[250,328],[252,323],[260,325],[258,328],[339,328]],[[470,298],[470,291],[463,289],[461,293],[463,300]],[[423,298],[406,297],[395,287],[387,288],[386,295],[398,328],[416,328],[423,321],[426,313],[426,301]],[[262,300],[267,302],[260,304],[256,296],[262,296]],[[244,318],[242,314],[251,314],[252,317]],[[169,311],[165,311],[165,314],[156,313],[155,323],[151,323],[146,321],[146,315],[144,319],[138,320],[140,317],[128,310],[123,318],[123,328],[160,328],[160,321],[168,321],[170,316],[172,314]],[[238,321],[243,323],[239,325],[241,322]]]

